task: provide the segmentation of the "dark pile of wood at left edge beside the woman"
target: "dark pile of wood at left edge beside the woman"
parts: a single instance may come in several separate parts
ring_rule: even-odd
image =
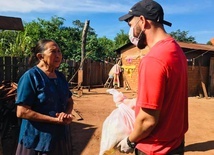
[[[14,154],[19,133],[16,117],[17,84],[3,81],[0,84],[0,154]]]

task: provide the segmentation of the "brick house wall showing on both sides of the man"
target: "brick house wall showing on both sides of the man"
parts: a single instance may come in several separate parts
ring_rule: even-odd
[[[137,82],[138,82],[138,66],[141,58],[148,52],[148,49],[139,50],[135,46],[130,46],[121,51],[122,68],[123,68],[123,86],[126,87],[125,79],[127,80],[131,90],[137,92]],[[187,54],[188,58],[195,58],[197,55]],[[203,56],[201,61],[201,66],[199,67],[197,59],[195,64],[193,62],[188,62],[188,96],[205,96],[201,79],[205,86],[209,85],[209,55]],[[200,70],[201,68],[201,70]],[[201,74],[200,72],[201,71]],[[209,95],[208,87],[206,87],[207,93]]]

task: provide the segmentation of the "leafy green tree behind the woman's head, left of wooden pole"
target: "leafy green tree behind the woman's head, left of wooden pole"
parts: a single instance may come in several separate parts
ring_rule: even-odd
[[[75,60],[80,53],[81,32],[75,27],[64,27],[64,21],[64,18],[57,16],[52,17],[51,20],[38,18],[26,23],[25,31],[32,37],[33,46],[39,39],[53,39],[60,46],[65,58]]]

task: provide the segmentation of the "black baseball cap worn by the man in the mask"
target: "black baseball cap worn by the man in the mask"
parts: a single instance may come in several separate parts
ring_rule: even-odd
[[[152,20],[157,23],[162,23],[167,26],[172,26],[172,23],[165,21],[163,8],[160,4],[153,0],[142,0],[136,3],[127,14],[120,17],[120,21],[128,21],[128,19],[134,16],[144,16],[148,20]]]

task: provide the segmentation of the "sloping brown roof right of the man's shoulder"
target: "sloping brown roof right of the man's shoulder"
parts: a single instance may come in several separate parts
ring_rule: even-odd
[[[194,50],[204,50],[204,51],[213,51],[214,52],[214,46],[213,45],[193,44],[193,43],[184,43],[184,42],[178,42],[178,44],[182,48],[194,49]]]

